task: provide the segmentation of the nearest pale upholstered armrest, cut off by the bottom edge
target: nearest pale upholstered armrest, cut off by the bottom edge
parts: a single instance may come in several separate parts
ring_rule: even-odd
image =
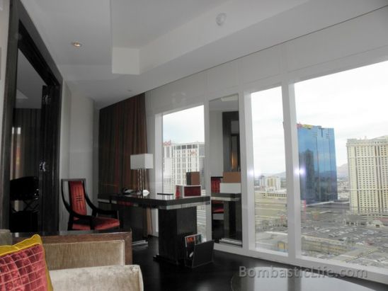
[[[50,278],[56,291],[144,290],[142,271],[137,265],[52,270]]]

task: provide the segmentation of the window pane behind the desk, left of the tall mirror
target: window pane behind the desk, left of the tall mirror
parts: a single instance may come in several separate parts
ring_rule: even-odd
[[[163,193],[175,194],[176,185],[188,185],[186,173],[199,172],[205,195],[204,161],[203,105],[163,115]],[[205,206],[197,207],[197,222],[205,236]]]

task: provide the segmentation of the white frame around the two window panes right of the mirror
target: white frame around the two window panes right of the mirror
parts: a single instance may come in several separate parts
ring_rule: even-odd
[[[360,56],[357,56],[360,57]],[[326,270],[328,273],[340,274],[342,272],[349,272],[353,274],[360,274],[360,271],[367,272],[367,280],[384,282],[388,279],[388,271],[384,268],[377,268],[372,266],[361,266],[354,263],[342,263],[340,261],[332,261],[321,258],[314,258],[311,256],[302,255],[302,222],[301,222],[301,205],[300,205],[300,185],[299,185],[299,152],[298,152],[298,139],[297,139],[297,127],[293,126],[297,124],[296,105],[295,105],[295,83],[299,81],[305,81],[309,79],[315,79],[320,76],[326,76],[329,74],[336,74],[344,72],[350,69],[357,69],[370,64],[378,62],[384,62],[388,60],[388,56],[377,59],[365,59],[365,56],[361,56],[358,62],[349,62],[349,59],[341,59],[339,62],[331,62],[330,64],[318,64],[309,68],[297,70],[295,72],[289,72],[278,76],[278,78],[268,78],[261,81],[257,81],[251,89],[244,92],[244,116],[246,124],[246,132],[252,130],[252,116],[251,116],[251,93],[257,91],[264,91],[266,89],[272,89],[274,87],[282,87],[282,99],[283,99],[283,122],[285,128],[285,159],[286,159],[286,175],[287,175],[287,220],[288,220],[288,253],[281,253],[279,251],[271,251],[267,249],[256,249],[255,247],[255,229],[254,229],[254,207],[251,206],[251,211],[245,213],[248,216],[249,234],[249,248],[245,249],[241,254],[249,255],[257,258],[263,258],[269,261],[278,261],[281,263],[288,263],[295,266],[301,266],[304,268],[313,267],[317,270]],[[351,63],[349,65],[349,63]],[[250,204],[253,203],[253,139],[246,136],[246,157],[247,157],[247,195]],[[242,158],[241,158],[242,159]],[[251,197],[252,199],[249,199]],[[244,212],[243,212],[244,213]],[[244,222],[244,217],[243,217]],[[253,231],[252,231],[253,229]],[[243,224],[244,231],[244,224]],[[243,234],[244,237],[244,234]],[[225,251],[233,251],[233,249],[222,248]]]

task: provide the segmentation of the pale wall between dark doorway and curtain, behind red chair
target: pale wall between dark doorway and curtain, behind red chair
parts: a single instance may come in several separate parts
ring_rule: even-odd
[[[59,178],[86,178],[86,190],[91,200],[96,202],[96,193],[93,193],[94,102],[73,95],[64,82],[61,114]],[[59,229],[67,229],[68,218],[60,197]]]

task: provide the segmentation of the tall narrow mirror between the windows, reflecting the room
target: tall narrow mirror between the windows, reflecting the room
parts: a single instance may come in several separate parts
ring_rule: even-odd
[[[209,102],[212,238],[242,246],[239,96]]]

